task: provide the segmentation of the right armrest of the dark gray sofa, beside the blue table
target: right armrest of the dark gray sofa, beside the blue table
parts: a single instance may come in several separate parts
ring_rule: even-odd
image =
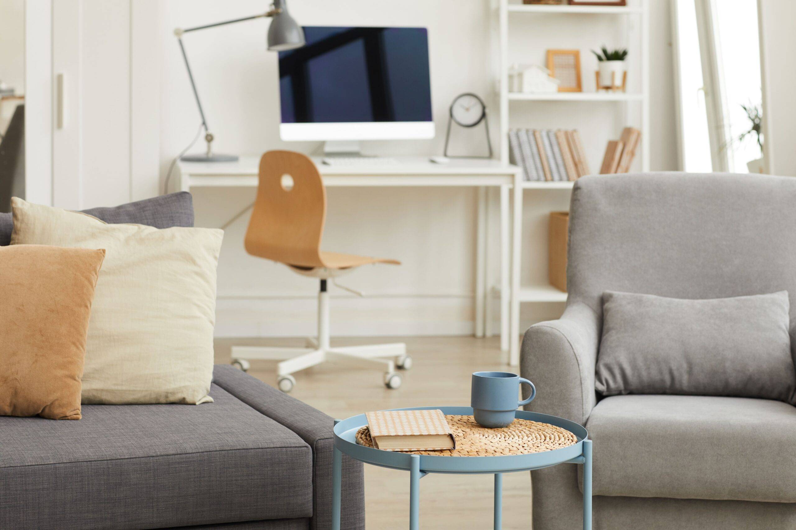
[[[216,365],[213,382],[295,432],[312,447],[312,530],[326,530],[332,523],[332,454],[334,419],[323,412],[266,385],[228,365]],[[365,484],[361,462],[343,455],[340,528],[365,528]]]

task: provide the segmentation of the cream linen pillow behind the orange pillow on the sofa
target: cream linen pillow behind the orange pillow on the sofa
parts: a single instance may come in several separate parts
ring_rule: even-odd
[[[223,230],[110,225],[11,199],[11,244],[105,249],[88,323],[84,404],[213,401]]]

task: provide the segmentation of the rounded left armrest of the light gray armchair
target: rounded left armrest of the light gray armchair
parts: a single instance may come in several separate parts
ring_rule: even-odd
[[[597,403],[599,339],[599,315],[586,304],[571,304],[560,319],[529,327],[520,371],[536,385],[537,397],[526,408],[585,424]]]

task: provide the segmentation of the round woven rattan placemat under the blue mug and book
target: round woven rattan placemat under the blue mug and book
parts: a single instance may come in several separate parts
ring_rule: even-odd
[[[531,420],[514,420],[509,427],[481,427],[473,416],[445,416],[453,430],[456,448],[444,451],[406,451],[412,455],[435,456],[502,456],[528,455],[552,451],[578,443],[572,432],[551,424]],[[373,447],[368,427],[357,431],[357,443]]]

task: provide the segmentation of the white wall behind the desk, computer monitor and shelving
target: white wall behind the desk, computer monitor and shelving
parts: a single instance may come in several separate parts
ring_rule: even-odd
[[[653,2],[652,87],[654,135],[652,167],[674,168],[669,10],[665,0]],[[293,16],[304,25],[419,25],[429,31],[431,81],[438,131],[447,126],[447,107],[461,92],[474,91],[490,103],[492,130],[497,130],[494,98],[494,13],[489,2],[470,0],[408,0],[330,3],[294,0]],[[161,170],[196,133],[199,116],[191,98],[177,42],[170,30],[262,10],[261,2],[170,0],[162,9]],[[318,142],[279,140],[279,92],[276,56],[265,50],[267,21],[250,21],[185,36],[185,48],[197,81],[219,153],[261,153],[267,149],[317,152]],[[607,31],[610,31],[607,30]],[[610,37],[610,33],[607,37]],[[603,43],[595,40],[595,47]],[[535,59],[534,59],[535,60]],[[589,79],[587,72],[585,79]],[[657,100],[656,100],[657,98]],[[567,111],[566,109],[562,109]],[[576,116],[565,118],[577,120]],[[598,114],[595,120],[601,119]],[[659,123],[658,126],[655,124]],[[581,126],[583,128],[583,126]],[[620,127],[621,130],[621,127]],[[659,132],[660,131],[660,132]],[[481,147],[481,130],[455,130],[459,149]],[[480,133],[480,134],[479,134]],[[497,142],[497,138],[494,138]],[[431,141],[366,142],[367,153],[440,153],[444,136]],[[497,144],[496,144],[497,145]],[[201,141],[194,150],[201,150]],[[593,161],[592,164],[597,164]],[[172,177],[174,178],[174,176]],[[220,226],[251,202],[253,190],[194,191],[197,224]],[[528,238],[546,242],[551,210],[568,209],[567,192],[526,197],[540,201],[526,213]],[[366,268],[342,281],[368,294],[358,300],[339,289],[333,304],[333,327],[341,335],[404,333],[458,334],[472,329],[474,291],[473,191],[412,189],[332,189],[324,248],[350,253],[396,257],[399,268]],[[219,335],[304,335],[312,332],[316,285],[281,265],[249,257],[243,250],[248,215],[230,226],[219,267]],[[492,225],[494,228],[497,224]],[[493,230],[492,245],[497,238]],[[544,251],[529,246],[526,253]],[[497,254],[495,254],[497,255]],[[526,261],[527,262],[527,261]],[[544,277],[529,271],[525,279]],[[555,318],[560,304],[526,307],[524,320]]]

